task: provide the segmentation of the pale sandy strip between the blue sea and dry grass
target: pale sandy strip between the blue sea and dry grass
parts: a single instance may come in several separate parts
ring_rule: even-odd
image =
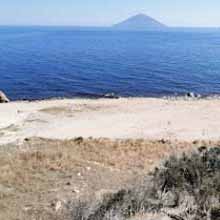
[[[28,137],[220,139],[220,100],[63,99],[0,105],[0,144]]]

